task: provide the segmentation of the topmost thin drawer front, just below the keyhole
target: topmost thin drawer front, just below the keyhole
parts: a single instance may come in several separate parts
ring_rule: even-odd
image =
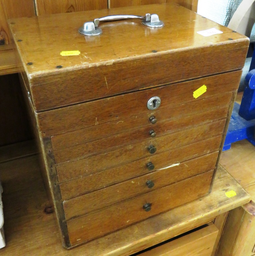
[[[202,114],[202,112],[228,106],[231,98],[232,93],[225,93],[223,95],[199,100],[199,104],[197,101],[193,101],[163,109],[160,107],[157,110],[146,114],[134,115],[117,121],[54,135],[51,137],[52,148],[54,150],[70,148],[87,142],[115,136],[127,131],[135,131],[138,127],[144,127],[145,125],[150,129],[156,129],[158,132],[157,125],[162,126],[166,120],[173,120],[182,117],[189,118],[194,114]],[[149,121],[150,116],[154,116],[157,119],[156,124],[151,124]],[[178,129],[178,127],[176,128]]]

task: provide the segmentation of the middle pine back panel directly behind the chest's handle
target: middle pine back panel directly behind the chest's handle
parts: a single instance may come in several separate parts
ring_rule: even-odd
[[[107,0],[35,0],[37,15],[106,9]]]

